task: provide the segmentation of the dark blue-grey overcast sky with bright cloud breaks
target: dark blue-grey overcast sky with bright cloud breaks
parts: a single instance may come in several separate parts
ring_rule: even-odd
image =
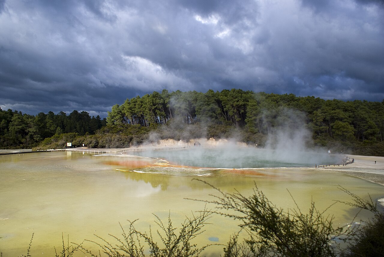
[[[384,99],[378,0],[0,0],[0,107],[85,110],[162,89]]]

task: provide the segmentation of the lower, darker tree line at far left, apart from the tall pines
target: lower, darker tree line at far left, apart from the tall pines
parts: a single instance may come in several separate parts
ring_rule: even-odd
[[[91,117],[88,112],[77,110],[69,115],[65,112],[30,115],[0,108],[0,122],[0,148],[31,148],[53,135],[94,134],[106,125],[105,118],[101,119],[99,115]]]

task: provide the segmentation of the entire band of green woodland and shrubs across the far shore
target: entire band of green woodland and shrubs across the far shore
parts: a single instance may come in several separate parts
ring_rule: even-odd
[[[106,120],[77,111],[68,116],[64,112],[32,116],[0,110],[0,122],[0,148],[27,148],[38,143],[41,149],[63,148],[61,133],[77,133],[74,145],[98,148],[198,137],[235,138],[263,146],[266,138],[281,128],[304,126],[312,133],[314,145],[333,152],[384,156],[384,101],[345,102],[241,89],[206,93],[164,89],[114,105]],[[108,128],[97,132],[106,124]],[[151,137],[150,131],[156,132],[156,137],[153,133]],[[43,141],[45,138],[50,139]]]

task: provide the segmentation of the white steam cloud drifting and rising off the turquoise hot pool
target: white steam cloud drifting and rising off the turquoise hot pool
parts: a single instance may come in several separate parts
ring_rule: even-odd
[[[162,136],[152,132],[149,135],[148,145],[156,145],[164,135],[174,136],[176,131],[179,131],[182,138],[194,139],[190,141],[192,147],[185,150],[139,153],[139,155],[164,158],[178,165],[209,168],[315,166],[315,164],[340,163],[341,157],[329,155],[327,149],[313,146],[312,133],[305,119],[306,115],[303,112],[281,108],[264,148],[241,147],[236,137],[220,141],[206,140],[207,132],[203,128],[204,125],[198,130],[200,133],[196,133],[175,119],[170,126],[167,126],[167,131],[161,131]],[[193,147],[193,141],[199,141],[202,147]],[[181,140],[179,143],[179,146],[185,145]],[[212,143],[216,143],[216,149],[204,148],[212,146]]]

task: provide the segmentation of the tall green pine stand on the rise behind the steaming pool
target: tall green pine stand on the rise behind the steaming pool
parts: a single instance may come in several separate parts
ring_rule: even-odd
[[[264,135],[283,124],[286,109],[304,114],[304,123],[321,144],[332,138],[341,142],[382,142],[384,133],[384,100],[324,100],[294,94],[266,94],[242,89],[224,89],[161,93],[127,99],[108,112],[107,124],[134,124],[150,127],[167,124],[177,118],[184,124],[233,125]]]

